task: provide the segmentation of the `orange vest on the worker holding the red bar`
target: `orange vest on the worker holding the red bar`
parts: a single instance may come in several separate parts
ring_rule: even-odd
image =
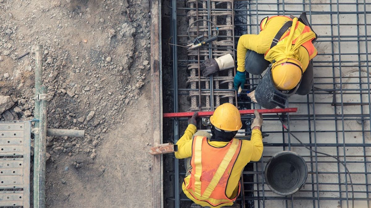
[[[234,198],[227,197],[226,189],[241,145],[242,141],[232,139],[224,147],[218,148],[211,146],[206,137],[193,138],[192,170],[186,189],[197,201],[206,201],[216,207],[236,200],[240,194],[240,182]]]

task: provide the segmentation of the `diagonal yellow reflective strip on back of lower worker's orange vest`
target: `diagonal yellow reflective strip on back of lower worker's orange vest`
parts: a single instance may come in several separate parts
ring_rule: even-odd
[[[226,156],[224,156],[223,160],[221,161],[218,170],[215,172],[213,179],[211,179],[210,184],[205,189],[204,193],[201,197],[209,198],[211,193],[214,191],[214,188],[219,183],[220,178],[223,176],[224,172],[226,171],[230,161],[233,158],[233,155],[236,153],[237,147],[239,144],[239,140],[233,139],[232,144],[230,145]]]

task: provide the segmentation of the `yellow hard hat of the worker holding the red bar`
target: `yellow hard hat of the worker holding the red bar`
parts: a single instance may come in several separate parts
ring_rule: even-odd
[[[230,103],[219,105],[211,115],[210,122],[224,131],[237,131],[242,127],[240,111]]]

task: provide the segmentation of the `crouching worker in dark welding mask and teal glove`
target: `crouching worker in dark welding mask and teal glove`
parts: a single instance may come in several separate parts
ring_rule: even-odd
[[[313,46],[315,39],[316,34],[305,12],[299,19],[288,16],[264,18],[258,35],[245,34],[239,38],[234,89],[244,88],[246,71],[259,75],[273,63],[256,89],[247,94],[252,101],[264,108],[284,108],[291,95],[308,94],[313,85],[312,59],[317,55]],[[210,68],[202,69],[213,73]]]

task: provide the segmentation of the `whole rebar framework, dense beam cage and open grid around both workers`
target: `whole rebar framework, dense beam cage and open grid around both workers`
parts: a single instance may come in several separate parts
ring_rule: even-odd
[[[169,1],[171,2],[171,1]],[[250,162],[243,171],[243,190],[237,199],[241,207],[371,207],[371,101],[370,60],[371,56],[371,2],[367,0],[198,0],[172,1],[172,27],[176,28],[177,41],[185,46],[190,43],[188,26],[198,19],[212,21],[220,30],[217,41],[207,47],[192,51],[177,51],[173,63],[177,73],[187,74],[189,83],[171,89],[178,102],[174,109],[213,110],[226,102],[240,108],[258,109],[260,105],[246,98],[246,91],[237,99],[233,90],[235,69],[220,71],[211,77],[199,76],[199,65],[206,58],[216,58],[230,53],[236,60],[234,48],[243,34],[259,34],[259,23],[266,16],[295,16],[306,11],[309,23],[318,34],[315,47],[318,55],[313,59],[314,84],[306,96],[293,95],[288,107],[297,107],[296,113],[280,115],[286,127],[305,145],[315,151],[334,155],[334,158],[307,150],[282,127],[277,115],[264,117],[262,127],[265,135],[263,157],[259,162]],[[176,7],[174,7],[176,6]],[[181,20],[181,21],[179,21]],[[185,20],[185,21],[183,21]],[[185,26],[181,26],[184,24]],[[200,21],[191,27],[191,37],[211,37],[215,27]],[[174,32],[174,29],[173,29]],[[197,34],[198,33],[198,34]],[[173,33],[174,34],[174,33]],[[230,44],[232,43],[234,44]],[[226,45],[222,45],[226,44]],[[179,48],[179,47],[178,47]],[[174,49],[174,46],[173,46]],[[172,51],[172,52],[173,52]],[[174,58],[174,56],[173,56]],[[181,80],[176,73],[174,80]],[[264,73],[262,74],[264,75]],[[255,87],[260,76],[247,78],[246,88]],[[170,90],[170,91],[171,91]],[[189,104],[181,101],[189,96]],[[176,105],[176,106],[175,106]],[[184,108],[184,105],[189,108]],[[176,108],[175,108],[176,107]],[[249,134],[251,117],[244,116],[243,132]],[[176,121],[176,122],[175,122]],[[185,120],[174,121],[174,140],[183,134]],[[176,126],[176,128],[175,128]],[[176,132],[175,132],[176,131]],[[272,192],[264,180],[265,166],[270,157],[282,150],[300,154],[308,166],[305,186],[290,196]],[[176,159],[174,159],[177,161]],[[353,183],[352,192],[346,164]],[[183,163],[183,161],[179,162]],[[174,195],[166,198],[165,207],[190,207],[191,201],[181,190],[184,167],[175,162],[168,170],[175,184]],[[175,183],[174,183],[175,181]],[[176,182],[179,182],[178,184]],[[353,198],[354,194],[354,198]]]

